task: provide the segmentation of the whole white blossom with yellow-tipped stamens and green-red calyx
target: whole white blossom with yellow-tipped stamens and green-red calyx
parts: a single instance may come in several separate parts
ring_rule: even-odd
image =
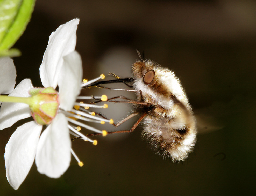
[[[6,176],[14,189],[18,189],[22,184],[34,159],[38,171],[52,178],[60,177],[68,169],[71,154],[79,166],[83,165],[71,148],[70,134],[76,138],[90,141],[94,145],[97,144],[97,141],[78,132],[77,130],[81,128],[69,123],[103,136],[107,132],[74,119],[113,124],[112,119],[96,117],[94,112],[83,108],[106,108],[106,104],[99,106],[76,102],[76,99],[107,101],[105,95],[101,97],[78,96],[83,87],[81,84],[82,61],[80,55],[75,51],[78,23],[79,19],[71,20],[61,25],[49,37],[40,66],[40,78],[45,88],[34,88],[30,79],[24,79],[7,97],[7,101],[14,102],[13,100],[15,100],[15,102],[21,103],[3,102],[1,106],[0,129],[10,127],[15,122],[27,117],[32,116],[35,120],[18,127],[5,147]],[[104,77],[102,74],[87,84],[104,79]],[[54,90],[57,86],[59,93]],[[25,99],[20,97],[25,97]],[[6,100],[6,97],[4,99]],[[73,109],[74,107],[76,109]],[[43,125],[47,125],[47,127],[41,134]]]

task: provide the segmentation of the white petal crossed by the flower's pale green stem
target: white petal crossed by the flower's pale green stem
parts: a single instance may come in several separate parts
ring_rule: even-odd
[[[29,97],[33,88],[30,79],[22,80],[8,96]],[[31,116],[29,106],[24,103],[3,102],[0,110],[0,130],[12,126],[15,122]]]

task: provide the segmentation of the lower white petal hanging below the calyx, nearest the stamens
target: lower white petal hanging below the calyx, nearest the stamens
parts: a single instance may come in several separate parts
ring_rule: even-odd
[[[71,139],[65,115],[57,114],[38,142],[35,164],[41,174],[59,178],[69,167]]]

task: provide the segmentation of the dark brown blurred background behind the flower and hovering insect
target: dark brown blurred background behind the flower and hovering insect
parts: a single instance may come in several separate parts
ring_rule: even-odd
[[[14,58],[17,84],[31,78],[34,86],[42,86],[39,66],[49,35],[78,17],[76,50],[84,78],[109,72],[131,77],[136,49],[144,51],[148,59],[176,72],[198,117],[199,133],[194,152],[178,164],[147,147],[142,126],[133,133],[95,136],[97,146],[77,140],[72,148],[83,167],[72,157],[67,172],[51,179],[34,164],[15,191],[6,180],[4,148],[17,123],[0,131],[0,195],[255,194],[255,10],[256,1],[237,0],[38,0],[15,45],[22,51]],[[122,91],[82,93],[134,98]],[[131,112],[131,105],[109,104],[101,112],[117,122]],[[135,121],[100,129],[130,129]]]

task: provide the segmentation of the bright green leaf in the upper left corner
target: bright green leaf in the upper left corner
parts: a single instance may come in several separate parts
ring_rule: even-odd
[[[34,4],[35,0],[0,0],[0,55],[8,54],[8,49],[22,35]]]

